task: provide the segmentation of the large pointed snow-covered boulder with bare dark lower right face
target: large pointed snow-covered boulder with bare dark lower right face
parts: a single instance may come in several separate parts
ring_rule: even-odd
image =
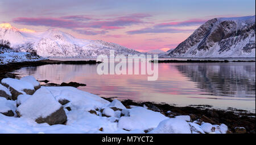
[[[40,88],[17,108],[19,117],[32,119],[49,125],[62,124],[67,121],[63,106],[55,100],[46,88]]]

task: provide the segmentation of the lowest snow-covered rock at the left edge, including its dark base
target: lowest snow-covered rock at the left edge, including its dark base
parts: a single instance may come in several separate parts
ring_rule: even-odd
[[[0,97],[0,113],[6,116],[14,116],[16,110],[15,101],[6,100],[6,98]]]

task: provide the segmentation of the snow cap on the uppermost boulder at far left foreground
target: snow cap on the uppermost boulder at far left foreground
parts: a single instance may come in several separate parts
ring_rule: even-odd
[[[3,78],[1,82],[2,84],[7,84],[23,94],[26,94],[23,92],[24,89],[34,90],[34,86],[32,84],[26,81],[18,80],[16,78]]]

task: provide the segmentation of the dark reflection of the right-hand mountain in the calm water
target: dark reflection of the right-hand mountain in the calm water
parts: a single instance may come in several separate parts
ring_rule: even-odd
[[[255,97],[253,64],[194,64],[176,65],[176,68],[213,96]]]

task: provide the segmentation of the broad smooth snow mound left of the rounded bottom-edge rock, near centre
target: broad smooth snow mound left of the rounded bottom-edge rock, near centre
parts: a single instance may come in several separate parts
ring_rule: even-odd
[[[158,126],[159,122],[167,119],[163,114],[145,109],[144,107],[133,107],[129,110],[129,117],[121,117],[118,122],[120,129],[147,130]]]

